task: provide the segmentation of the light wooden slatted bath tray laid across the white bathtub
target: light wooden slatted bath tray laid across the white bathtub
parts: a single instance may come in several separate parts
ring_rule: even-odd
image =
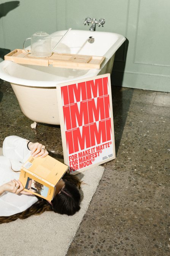
[[[76,68],[76,69],[100,69],[105,57],[78,55],[68,53],[53,52],[50,57],[38,58],[33,57],[31,54],[26,53],[22,49],[15,49],[4,56],[5,60],[10,60],[19,64],[49,66],[52,64],[54,67],[60,68]]]

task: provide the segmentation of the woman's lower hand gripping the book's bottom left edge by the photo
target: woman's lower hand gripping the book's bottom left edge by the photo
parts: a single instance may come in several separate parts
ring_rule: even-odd
[[[14,194],[32,194],[24,190],[24,186],[22,185],[20,180],[11,180],[2,185],[3,191],[8,191]],[[24,193],[23,193],[24,192]]]

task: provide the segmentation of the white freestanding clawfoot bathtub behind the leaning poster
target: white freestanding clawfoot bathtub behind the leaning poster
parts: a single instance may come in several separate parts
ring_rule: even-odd
[[[52,34],[52,46],[66,31]],[[94,43],[88,37],[94,37]],[[79,70],[52,66],[21,65],[10,61],[0,63],[0,78],[11,83],[24,115],[34,122],[59,125],[56,86],[59,83],[111,73],[116,50],[126,38],[110,32],[71,30],[54,52],[105,56],[99,69]]]

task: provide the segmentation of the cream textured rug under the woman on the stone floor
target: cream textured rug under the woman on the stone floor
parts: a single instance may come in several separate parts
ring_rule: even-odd
[[[0,154],[2,151],[0,149]],[[73,216],[44,212],[28,219],[0,224],[0,255],[65,256],[94,195],[104,167],[79,173],[88,185],[81,188],[81,209]]]

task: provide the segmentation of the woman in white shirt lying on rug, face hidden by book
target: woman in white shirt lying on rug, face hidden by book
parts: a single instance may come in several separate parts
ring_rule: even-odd
[[[30,157],[45,157],[48,151],[40,143],[32,143],[18,136],[8,136],[3,141],[3,156],[0,156],[0,223],[26,219],[44,211],[73,215],[80,209],[81,181],[69,173],[56,185],[51,202],[24,191],[19,181],[21,166]]]

